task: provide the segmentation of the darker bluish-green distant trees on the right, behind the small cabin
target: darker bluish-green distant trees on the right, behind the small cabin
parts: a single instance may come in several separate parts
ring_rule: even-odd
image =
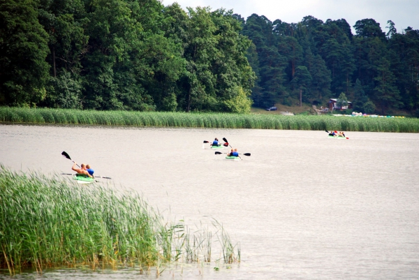
[[[373,19],[271,22],[256,14],[242,22],[252,40],[247,52],[257,80],[255,105],[302,101],[321,104],[342,93],[361,112],[414,112],[419,108],[419,30],[397,33],[388,21],[385,33]],[[419,110],[418,110],[419,112]]]

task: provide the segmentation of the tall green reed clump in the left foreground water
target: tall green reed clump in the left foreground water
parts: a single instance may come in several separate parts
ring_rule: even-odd
[[[210,262],[217,242],[225,263],[240,262],[223,227],[191,230],[163,221],[133,191],[79,185],[37,172],[12,172],[0,165],[0,267],[135,266],[140,271],[166,262]],[[218,240],[213,240],[213,236]]]

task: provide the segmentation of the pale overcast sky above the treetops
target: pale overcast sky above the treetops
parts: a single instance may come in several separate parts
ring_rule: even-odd
[[[419,29],[419,0],[163,0],[163,5],[174,2],[184,9],[196,6],[233,9],[245,19],[256,13],[272,22],[300,22],[302,17],[312,15],[323,22],[344,18],[351,27],[357,20],[372,18],[385,33],[388,20],[395,23],[398,33],[406,27]]]

